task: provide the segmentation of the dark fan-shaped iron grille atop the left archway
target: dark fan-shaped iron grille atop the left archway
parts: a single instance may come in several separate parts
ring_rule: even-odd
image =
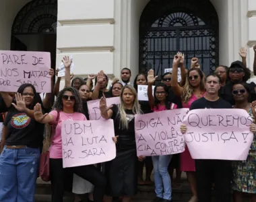
[[[33,0],[16,16],[12,34],[57,33],[57,0]]]

